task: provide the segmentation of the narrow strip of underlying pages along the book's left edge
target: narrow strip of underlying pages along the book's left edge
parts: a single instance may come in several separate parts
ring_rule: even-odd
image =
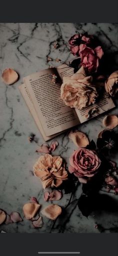
[[[27,105],[27,107],[28,107],[28,109],[29,109],[29,111],[30,111],[30,113],[31,113],[31,115],[32,115],[32,117],[33,117],[33,119],[34,119],[42,137],[43,137],[43,139],[44,139],[44,141],[49,141],[50,139],[54,138],[55,135],[52,135],[52,136],[49,136],[49,137],[45,136],[44,131],[42,129],[41,122],[40,122],[40,120],[38,118],[38,115],[35,111],[35,108],[34,108],[33,103],[31,101],[31,97],[30,97],[30,95],[27,91],[27,88],[26,88],[25,84],[19,85],[19,90],[20,90],[20,92],[21,92],[21,94],[22,94],[22,96],[25,100],[25,103],[26,103],[26,105]],[[59,135],[59,134],[57,134],[57,135]]]

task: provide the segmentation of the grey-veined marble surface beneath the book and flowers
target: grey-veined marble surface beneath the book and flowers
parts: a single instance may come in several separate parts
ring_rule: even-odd
[[[34,133],[38,144],[43,143],[39,131],[20,95],[18,85],[22,78],[30,73],[47,68],[55,63],[47,63],[46,56],[70,60],[67,41],[76,31],[87,31],[96,35],[104,51],[115,56],[117,52],[116,24],[0,24],[0,73],[6,67],[15,69],[19,73],[19,80],[12,86],[6,86],[0,81],[0,208],[7,213],[18,211],[23,217],[22,206],[31,196],[35,196],[39,203],[43,201],[41,183],[32,176],[32,166],[39,154],[35,153],[35,143],[29,144],[27,137]],[[62,44],[60,51],[53,48],[53,42],[59,40]],[[114,69],[116,62],[114,62]],[[116,113],[113,109],[111,113]],[[89,140],[96,141],[97,134],[103,129],[103,115],[78,126],[79,131],[85,132]],[[57,137],[58,148],[53,155],[61,155],[68,163],[73,149],[73,143],[67,134]],[[116,161],[116,156],[111,156]],[[79,198],[79,186],[72,200]],[[114,194],[109,194],[116,200]],[[56,202],[65,207],[70,194]],[[102,226],[102,232],[117,231],[117,214],[115,212],[99,211],[88,218],[82,216],[76,201],[71,204],[63,218],[53,221],[43,218],[44,225],[40,229],[31,227],[30,221],[24,219],[18,224],[1,225],[0,230],[6,232],[100,232],[94,228],[95,223]]]

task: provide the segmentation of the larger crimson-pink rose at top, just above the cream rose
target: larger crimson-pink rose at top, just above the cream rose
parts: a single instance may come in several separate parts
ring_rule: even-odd
[[[79,55],[81,57],[81,65],[88,72],[96,72],[99,59],[103,55],[103,50],[100,46],[97,46],[94,50],[90,47],[87,47],[85,44],[81,44],[79,47]]]

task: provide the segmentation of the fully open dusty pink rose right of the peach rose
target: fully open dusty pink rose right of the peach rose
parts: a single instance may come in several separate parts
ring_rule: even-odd
[[[69,158],[70,173],[73,173],[81,183],[87,183],[88,178],[93,177],[100,166],[100,159],[94,151],[79,148]]]

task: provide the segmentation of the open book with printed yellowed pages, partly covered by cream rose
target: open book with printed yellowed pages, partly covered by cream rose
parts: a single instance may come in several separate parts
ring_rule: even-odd
[[[44,141],[86,121],[88,119],[86,113],[89,110],[97,108],[97,111],[90,116],[92,118],[115,107],[112,99],[105,92],[97,103],[81,110],[66,106],[60,98],[60,86],[62,78],[72,74],[73,68],[62,64],[57,68],[48,68],[24,77],[24,83],[19,86]],[[53,75],[56,76],[55,82],[52,79]]]

